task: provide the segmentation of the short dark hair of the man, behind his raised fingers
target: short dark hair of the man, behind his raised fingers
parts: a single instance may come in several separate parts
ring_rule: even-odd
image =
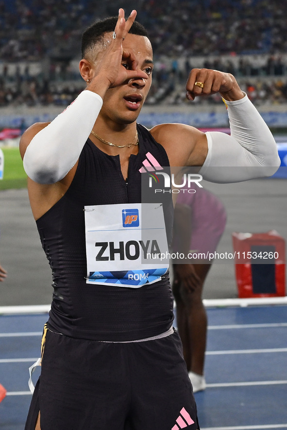
[[[94,22],[84,31],[82,35],[82,58],[84,58],[89,48],[103,39],[104,33],[110,33],[115,30],[117,21],[118,17],[105,18]],[[144,26],[137,21],[133,23],[129,33],[149,37]]]

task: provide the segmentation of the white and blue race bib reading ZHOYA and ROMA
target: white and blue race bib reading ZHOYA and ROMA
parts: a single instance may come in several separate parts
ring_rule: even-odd
[[[161,203],[85,206],[87,283],[139,288],[169,267]]]

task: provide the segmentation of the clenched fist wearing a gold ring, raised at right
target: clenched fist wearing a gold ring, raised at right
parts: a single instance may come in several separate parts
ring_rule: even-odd
[[[198,84],[203,84],[203,87]],[[239,100],[244,97],[235,77],[231,73],[212,69],[194,68],[189,73],[186,83],[186,98],[194,100],[198,96],[220,93],[226,100]]]

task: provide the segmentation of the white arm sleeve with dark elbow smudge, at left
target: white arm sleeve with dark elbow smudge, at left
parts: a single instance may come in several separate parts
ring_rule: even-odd
[[[76,164],[102,106],[101,97],[84,90],[68,108],[38,132],[23,165],[33,181],[55,183]]]

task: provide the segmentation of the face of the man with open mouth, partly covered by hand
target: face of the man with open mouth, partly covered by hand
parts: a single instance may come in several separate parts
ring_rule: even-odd
[[[110,34],[107,35],[109,38]],[[137,61],[137,70],[143,70],[147,78],[134,78],[115,88],[108,89],[101,108],[101,116],[120,124],[134,122],[152,84],[152,45],[147,37],[127,34],[122,43],[123,49],[133,52]],[[128,61],[122,61],[124,67],[130,67]]]

